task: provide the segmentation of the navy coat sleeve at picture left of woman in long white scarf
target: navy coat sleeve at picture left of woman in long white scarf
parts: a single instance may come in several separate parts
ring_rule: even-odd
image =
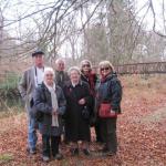
[[[41,87],[37,87],[33,95],[34,106],[39,112],[51,114],[52,107],[46,103],[44,92]]]

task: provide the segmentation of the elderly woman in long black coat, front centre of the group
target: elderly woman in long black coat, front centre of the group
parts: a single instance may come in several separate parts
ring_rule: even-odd
[[[81,81],[79,68],[69,70],[70,82],[64,86],[66,98],[65,136],[71,142],[72,155],[79,155],[79,141],[82,141],[83,153],[90,155],[90,110],[91,95],[87,83]]]

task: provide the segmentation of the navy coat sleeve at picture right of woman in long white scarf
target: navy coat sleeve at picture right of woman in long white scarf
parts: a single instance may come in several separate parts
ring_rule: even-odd
[[[65,113],[65,110],[66,110],[66,101],[65,101],[65,97],[64,97],[62,89],[59,89],[59,90],[60,90],[60,97],[59,97],[58,113],[60,115],[63,115]]]

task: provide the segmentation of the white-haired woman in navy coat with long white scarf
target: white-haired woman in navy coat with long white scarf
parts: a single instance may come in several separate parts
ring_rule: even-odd
[[[65,98],[60,86],[54,83],[52,68],[44,69],[44,80],[34,93],[34,107],[40,113],[39,129],[42,134],[42,158],[49,162],[51,154],[54,159],[61,159],[59,153],[60,136],[62,134],[62,118],[65,112]]]

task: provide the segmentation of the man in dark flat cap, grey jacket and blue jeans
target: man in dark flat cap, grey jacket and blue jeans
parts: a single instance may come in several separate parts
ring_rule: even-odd
[[[28,151],[30,154],[35,154],[37,145],[37,122],[30,114],[33,92],[38,85],[43,81],[44,72],[44,52],[35,51],[32,53],[33,66],[25,70],[19,83],[20,94],[25,103],[28,113]]]

